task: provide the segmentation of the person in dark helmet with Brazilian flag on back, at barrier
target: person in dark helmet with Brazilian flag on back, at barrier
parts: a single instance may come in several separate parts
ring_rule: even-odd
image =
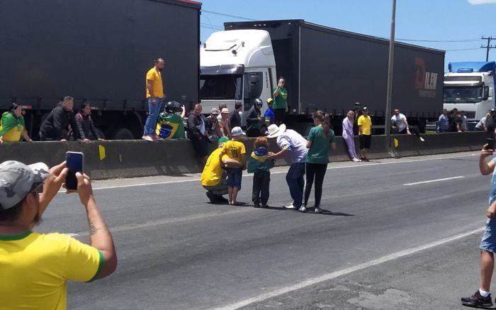
[[[177,115],[179,112],[181,112],[181,116]],[[181,106],[177,101],[167,102],[157,121],[157,135],[159,138],[168,140],[186,138],[183,123],[185,114],[184,105]]]

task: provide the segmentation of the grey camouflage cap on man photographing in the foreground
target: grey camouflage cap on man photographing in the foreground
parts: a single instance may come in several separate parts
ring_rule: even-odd
[[[43,162],[24,165],[16,160],[0,164],[0,210],[11,209],[48,177]]]

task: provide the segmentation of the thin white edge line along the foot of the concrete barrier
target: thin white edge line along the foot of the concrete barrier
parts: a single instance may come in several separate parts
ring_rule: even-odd
[[[441,157],[441,158],[427,158],[427,159],[421,159],[421,160],[398,160],[395,162],[361,162],[356,165],[346,165],[346,166],[340,166],[340,167],[327,167],[327,170],[333,170],[333,169],[343,169],[343,168],[356,168],[356,167],[368,167],[368,166],[377,166],[377,165],[392,165],[392,164],[404,164],[408,162],[424,162],[428,160],[446,160],[450,158],[462,158],[462,157],[472,157],[475,156],[476,154],[470,154],[470,155],[463,155],[463,156],[448,156],[448,157]],[[271,175],[278,175],[281,173],[286,173],[287,171],[281,171],[281,172],[271,172]],[[250,175],[243,175],[243,177],[253,177],[252,174]],[[126,185],[118,185],[118,186],[111,186],[111,187],[94,187],[93,190],[100,190],[100,189],[120,189],[120,188],[125,188],[125,187],[142,187],[142,186],[148,186],[148,185],[165,185],[165,184],[173,184],[173,183],[186,183],[186,182],[200,182],[200,179],[184,179],[180,181],[166,181],[166,182],[152,182],[152,183],[142,183],[142,184],[126,184]],[[65,192],[64,190],[61,190],[59,192]]]

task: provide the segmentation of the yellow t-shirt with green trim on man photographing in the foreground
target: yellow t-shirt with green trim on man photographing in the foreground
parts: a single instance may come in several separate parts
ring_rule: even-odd
[[[99,250],[61,233],[0,235],[0,309],[66,309],[67,279],[102,268]]]

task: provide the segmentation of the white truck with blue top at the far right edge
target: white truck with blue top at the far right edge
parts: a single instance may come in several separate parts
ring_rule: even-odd
[[[464,111],[468,129],[495,107],[496,62],[450,62],[444,74],[444,109]]]

